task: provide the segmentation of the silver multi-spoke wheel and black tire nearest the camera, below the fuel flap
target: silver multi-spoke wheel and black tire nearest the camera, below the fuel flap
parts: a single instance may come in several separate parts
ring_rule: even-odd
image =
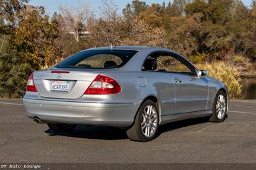
[[[159,125],[157,103],[145,101],[136,114],[134,124],[126,131],[132,141],[150,141],[155,138]]]

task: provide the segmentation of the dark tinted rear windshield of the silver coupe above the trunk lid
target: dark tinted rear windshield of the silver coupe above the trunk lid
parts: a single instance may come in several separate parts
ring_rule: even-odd
[[[108,69],[124,66],[137,53],[135,50],[88,50],[76,53],[55,67]]]

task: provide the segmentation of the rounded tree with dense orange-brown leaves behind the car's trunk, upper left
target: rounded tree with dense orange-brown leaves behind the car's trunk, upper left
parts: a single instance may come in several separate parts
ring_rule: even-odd
[[[32,11],[22,11],[10,45],[17,49],[20,61],[26,63],[28,72],[31,72],[45,65],[51,66],[60,59],[62,52],[56,45],[58,36],[56,23],[49,21],[43,7],[36,7]]]

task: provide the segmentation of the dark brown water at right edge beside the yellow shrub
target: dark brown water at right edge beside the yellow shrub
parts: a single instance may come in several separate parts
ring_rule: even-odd
[[[256,78],[243,78],[240,83],[243,98],[256,99]]]

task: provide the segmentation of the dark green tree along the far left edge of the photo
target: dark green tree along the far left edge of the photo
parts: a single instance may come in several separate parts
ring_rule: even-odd
[[[10,35],[19,23],[26,0],[0,1],[0,97],[20,97],[26,88],[26,64],[10,45]]]

